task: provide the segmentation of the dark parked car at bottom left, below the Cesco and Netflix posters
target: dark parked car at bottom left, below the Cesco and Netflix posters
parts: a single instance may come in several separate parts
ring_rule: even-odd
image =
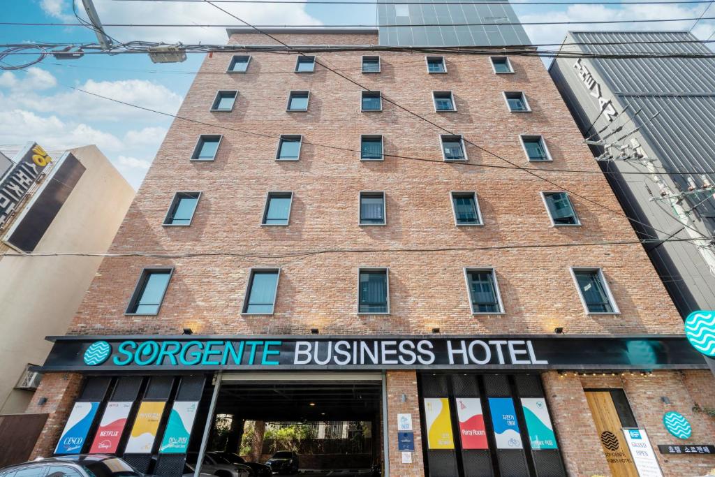
[[[40,458],[0,469],[0,477],[143,477],[128,463],[103,454]]]

